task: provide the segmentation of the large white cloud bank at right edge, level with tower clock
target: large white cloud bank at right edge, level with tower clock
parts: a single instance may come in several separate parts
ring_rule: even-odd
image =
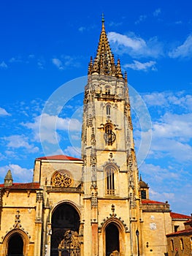
[[[189,164],[192,159],[192,114],[165,113],[153,122],[149,159],[174,159]]]

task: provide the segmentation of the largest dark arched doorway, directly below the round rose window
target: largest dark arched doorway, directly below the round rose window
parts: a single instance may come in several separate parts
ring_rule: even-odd
[[[69,203],[63,203],[53,212],[53,216],[51,218],[52,223],[52,236],[51,236],[51,249],[50,256],[58,256],[65,255],[66,249],[60,249],[61,241],[64,241],[64,238],[69,239],[66,234],[70,233],[72,236],[74,234],[78,236],[79,228],[80,228],[80,215],[77,210]],[[72,242],[74,241],[73,237],[70,237],[70,240],[64,241],[63,244],[67,244],[67,248],[70,244],[70,249],[73,249]],[[59,253],[60,251],[60,253]]]

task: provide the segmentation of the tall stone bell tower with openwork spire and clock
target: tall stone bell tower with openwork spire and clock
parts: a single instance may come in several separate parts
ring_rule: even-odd
[[[104,18],[96,57],[88,65],[82,160],[84,231],[91,238],[84,246],[91,248],[89,255],[137,255],[139,178],[127,75],[120,59],[115,64]]]

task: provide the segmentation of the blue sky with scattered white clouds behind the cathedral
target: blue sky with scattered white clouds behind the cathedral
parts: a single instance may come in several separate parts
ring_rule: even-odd
[[[1,1],[0,182],[9,169],[15,182],[30,182],[34,159],[45,153],[80,155],[85,79],[79,78],[96,54],[104,12],[115,59],[150,114],[152,140],[139,173],[151,199],[191,214],[191,7],[190,0]],[[45,102],[52,103],[54,95],[57,110],[50,104],[47,114]],[[138,152],[147,132],[134,108],[132,114]]]

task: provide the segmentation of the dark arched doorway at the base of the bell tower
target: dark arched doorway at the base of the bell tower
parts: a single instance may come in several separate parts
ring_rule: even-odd
[[[119,230],[115,224],[110,223],[105,230],[106,256],[120,255]]]

